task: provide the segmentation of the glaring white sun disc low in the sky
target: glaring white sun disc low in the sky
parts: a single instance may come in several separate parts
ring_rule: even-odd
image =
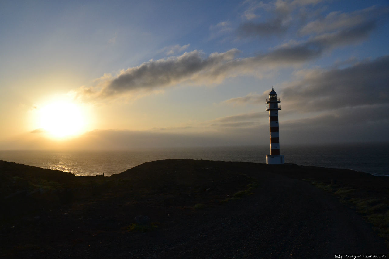
[[[83,133],[86,116],[81,106],[68,101],[54,101],[40,109],[39,126],[54,138]]]

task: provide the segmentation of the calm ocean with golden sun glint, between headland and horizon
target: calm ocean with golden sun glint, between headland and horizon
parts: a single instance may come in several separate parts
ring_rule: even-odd
[[[283,145],[285,163],[343,168],[389,175],[389,143]],[[176,147],[120,151],[5,150],[0,160],[71,172],[75,175],[105,176],[121,173],[159,159],[205,159],[266,163],[268,146]]]

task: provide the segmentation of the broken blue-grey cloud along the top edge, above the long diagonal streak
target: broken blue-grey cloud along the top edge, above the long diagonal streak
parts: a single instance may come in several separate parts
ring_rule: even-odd
[[[316,5],[321,1],[274,1],[269,4],[251,3],[252,6],[268,9],[272,15],[268,20],[261,22],[247,21],[237,28],[240,37],[268,37],[270,35],[285,35],[290,29],[297,30],[297,35],[319,35],[322,33],[334,33],[340,30],[362,27],[367,23],[377,23],[387,16],[388,7],[371,6],[363,10],[353,12],[333,11],[322,17],[317,10],[307,9],[307,5]],[[300,10],[297,10],[299,9]],[[309,11],[310,10],[310,11]],[[309,12],[311,15],[308,15]],[[250,17],[259,17],[249,12]],[[313,15],[315,13],[315,15]],[[310,16],[310,21],[306,19]],[[312,20],[313,19],[313,20]]]

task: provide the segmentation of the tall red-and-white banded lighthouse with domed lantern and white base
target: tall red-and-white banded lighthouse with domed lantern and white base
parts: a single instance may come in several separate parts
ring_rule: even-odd
[[[266,156],[266,164],[280,165],[285,163],[284,155],[280,155],[280,135],[278,128],[278,111],[281,110],[280,98],[272,87],[269,98],[266,98],[266,110],[269,111],[270,124],[270,156]]]

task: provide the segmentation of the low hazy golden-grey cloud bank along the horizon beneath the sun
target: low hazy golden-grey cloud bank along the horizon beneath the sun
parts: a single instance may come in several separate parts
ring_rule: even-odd
[[[231,129],[231,131],[229,131]],[[77,138],[58,142],[49,138],[18,136],[0,141],[2,149],[145,149],[161,147],[210,147],[224,145],[253,145],[261,140],[251,135],[236,134],[241,128],[226,128],[225,131],[166,132],[131,130],[94,130]],[[268,132],[266,132],[268,133]],[[31,134],[30,134],[31,135]],[[265,134],[266,137],[268,134]],[[34,134],[35,136],[35,134]],[[268,138],[266,138],[266,142]]]

